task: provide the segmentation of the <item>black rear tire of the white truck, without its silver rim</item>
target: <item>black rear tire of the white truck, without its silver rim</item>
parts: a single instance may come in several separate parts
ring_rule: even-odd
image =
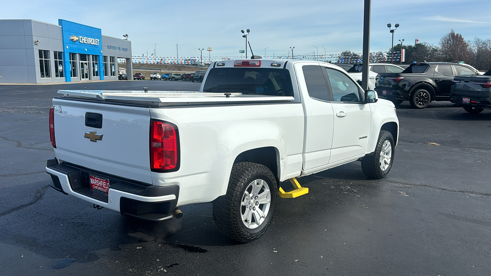
[[[241,203],[246,196],[246,189],[248,189],[255,180],[264,180],[268,184],[271,193],[271,201],[265,220],[260,222],[259,226],[256,228],[250,229],[249,227],[246,227],[244,221],[242,221],[242,212],[245,212],[245,208],[247,207],[242,206]],[[228,182],[227,193],[213,202],[213,220],[215,221],[218,231],[223,236],[243,243],[248,243],[259,238],[266,232],[273,220],[274,210],[276,209],[277,191],[276,179],[274,178],[273,172],[271,172],[268,167],[250,162],[234,164]],[[258,205],[255,206],[262,205],[259,203],[256,204]]]

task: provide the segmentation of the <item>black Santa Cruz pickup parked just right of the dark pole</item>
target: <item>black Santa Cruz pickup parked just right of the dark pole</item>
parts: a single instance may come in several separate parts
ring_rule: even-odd
[[[455,76],[480,75],[467,64],[448,62],[412,63],[402,73],[379,73],[375,91],[394,104],[409,101],[412,108],[424,109],[431,101],[450,100]]]

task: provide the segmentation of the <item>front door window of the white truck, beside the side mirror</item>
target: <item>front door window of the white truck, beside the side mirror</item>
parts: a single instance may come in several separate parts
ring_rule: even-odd
[[[358,86],[340,71],[326,68],[334,102],[360,102]]]

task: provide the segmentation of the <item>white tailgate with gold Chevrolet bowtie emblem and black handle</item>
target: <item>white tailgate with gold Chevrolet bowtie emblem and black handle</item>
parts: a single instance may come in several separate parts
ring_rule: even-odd
[[[149,108],[59,98],[53,106],[59,160],[152,184]]]

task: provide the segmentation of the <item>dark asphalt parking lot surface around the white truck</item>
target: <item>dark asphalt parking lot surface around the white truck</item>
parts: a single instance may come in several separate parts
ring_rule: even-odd
[[[279,198],[273,224],[250,244],[218,234],[211,204],[136,221],[48,186],[58,89],[200,84],[0,85],[0,275],[490,275],[491,110],[403,103],[386,178],[367,179],[359,162],[299,178],[310,193]]]

